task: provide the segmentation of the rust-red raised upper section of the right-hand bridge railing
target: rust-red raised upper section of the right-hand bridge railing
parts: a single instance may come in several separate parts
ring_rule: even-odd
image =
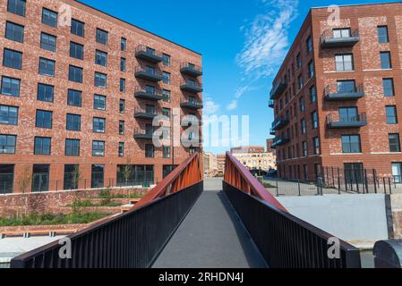
[[[225,182],[287,213],[285,206],[282,206],[230,152],[227,152],[225,163]]]

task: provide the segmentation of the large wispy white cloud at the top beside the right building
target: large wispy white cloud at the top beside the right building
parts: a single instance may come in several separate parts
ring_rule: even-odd
[[[298,0],[261,0],[266,13],[259,14],[244,30],[244,49],[237,63],[252,80],[271,76],[287,55],[288,32],[297,16]]]

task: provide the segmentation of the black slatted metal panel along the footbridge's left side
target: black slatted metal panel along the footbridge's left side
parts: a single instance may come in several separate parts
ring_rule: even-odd
[[[12,268],[146,268],[200,197],[203,182],[73,234],[72,257],[56,241],[15,257]]]

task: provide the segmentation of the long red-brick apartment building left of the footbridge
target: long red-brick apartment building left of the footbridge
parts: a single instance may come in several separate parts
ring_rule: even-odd
[[[0,193],[24,178],[31,191],[115,186],[127,164],[153,184],[196,150],[151,134],[175,108],[201,119],[201,55],[73,0],[1,0],[0,17]]]

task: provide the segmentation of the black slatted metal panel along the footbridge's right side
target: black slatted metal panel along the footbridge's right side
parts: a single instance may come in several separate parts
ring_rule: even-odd
[[[331,259],[329,233],[225,182],[223,187],[269,267],[361,268],[359,249],[339,240],[340,256]]]

